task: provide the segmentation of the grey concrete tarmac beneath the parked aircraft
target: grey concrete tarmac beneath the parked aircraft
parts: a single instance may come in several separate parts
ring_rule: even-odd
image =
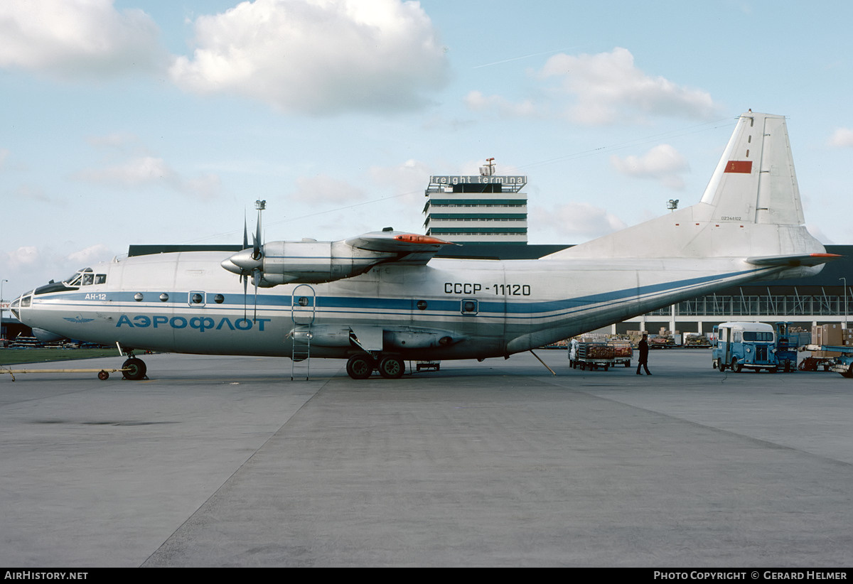
[[[538,354],[556,376],[530,354],[396,381],[178,355],[139,382],[0,376],[0,564],[853,564],[853,381]]]

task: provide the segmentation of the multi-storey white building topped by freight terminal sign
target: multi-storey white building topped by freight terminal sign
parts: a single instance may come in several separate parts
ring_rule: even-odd
[[[430,176],[427,235],[455,243],[527,243],[526,176],[498,176],[494,159],[479,175]]]

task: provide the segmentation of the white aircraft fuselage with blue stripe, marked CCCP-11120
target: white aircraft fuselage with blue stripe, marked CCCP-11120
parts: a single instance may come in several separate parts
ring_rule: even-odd
[[[630,316],[755,279],[733,259],[454,260],[383,264],[325,284],[244,292],[223,252],[181,252],[100,263],[76,289],[36,289],[18,308],[33,327],[135,349],[291,356],[371,350],[409,359],[508,356]],[[776,270],[778,271],[778,269]],[[101,276],[101,277],[99,277]],[[102,283],[95,283],[103,280]],[[371,333],[371,331],[373,333]]]

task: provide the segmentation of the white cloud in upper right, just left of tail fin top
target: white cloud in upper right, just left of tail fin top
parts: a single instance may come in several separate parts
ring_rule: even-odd
[[[717,114],[706,91],[647,75],[621,47],[598,55],[554,55],[539,76],[560,81],[560,94],[573,101],[566,116],[578,124],[612,124],[647,115],[710,119]]]

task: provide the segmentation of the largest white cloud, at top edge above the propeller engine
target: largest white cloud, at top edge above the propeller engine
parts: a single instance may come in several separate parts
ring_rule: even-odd
[[[310,114],[403,111],[444,86],[447,61],[418,3],[256,0],[195,20],[184,90],[258,99]]]

